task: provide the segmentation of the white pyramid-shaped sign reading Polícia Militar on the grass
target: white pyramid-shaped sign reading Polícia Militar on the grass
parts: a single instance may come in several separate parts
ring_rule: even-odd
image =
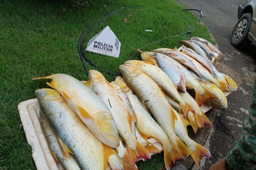
[[[119,57],[121,42],[113,31],[107,26],[96,34],[87,44],[86,51],[104,54],[112,57]]]

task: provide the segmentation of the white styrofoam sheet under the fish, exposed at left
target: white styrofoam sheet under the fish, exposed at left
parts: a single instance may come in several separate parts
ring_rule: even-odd
[[[230,92],[225,93],[227,96]],[[206,113],[211,109],[209,105],[202,105],[202,111]],[[20,102],[18,110],[20,113],[20,120],[25,131],[26,139],[32,147],[32,157],[38,170],[58,170],[52,155],[50,153],[47,141],[41,130],[39,122],[39,104],[37,99],[29,99]],[[163,151],[163,146],[157,140],[151,138],[149,142],[154,144],[160,151]],[[110,170],[108,167],[107,170]]]

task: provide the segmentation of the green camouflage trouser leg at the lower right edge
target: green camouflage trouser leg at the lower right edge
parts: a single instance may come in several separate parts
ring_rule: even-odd
[[[253,86],[253,102],[249,116],[243,123],[243,132],[236,147],[226,156],[227,163],[234,170],[253,170],[256,168],[256,79]]]

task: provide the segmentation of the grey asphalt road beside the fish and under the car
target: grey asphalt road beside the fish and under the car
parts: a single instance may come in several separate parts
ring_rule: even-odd
[[[248,46],[243,51],[230,44],[230,36],[238,18],[237,9],[242,0],[176,0],[187,8],[203,11],[203,23],[209,27],[219,49],[225,57],[216,68],[233,78],[238,90],[227,96],[226,111],[215,111],[213,131],[209,137],[209,150],[212,154],[206,159],[202,170],[225,157],[232,150],[242,132],[242,123],[248,115],[252,100],[252,88],[256,76],[256,47]],[[199,12],[194,12],[198,18]],[[211,110],[212,111],[212,110]]]

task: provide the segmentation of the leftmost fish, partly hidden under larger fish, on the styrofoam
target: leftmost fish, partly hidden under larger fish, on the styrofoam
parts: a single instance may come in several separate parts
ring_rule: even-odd
[[[62,139],[56,135],[52,125],[50,125],[41,111],[39,111],[39,120],[49,150],[56,164],[61,164],[62,168],[64,167],[65,170],[80,170],[79,165],[73,158],[72,151]]]

